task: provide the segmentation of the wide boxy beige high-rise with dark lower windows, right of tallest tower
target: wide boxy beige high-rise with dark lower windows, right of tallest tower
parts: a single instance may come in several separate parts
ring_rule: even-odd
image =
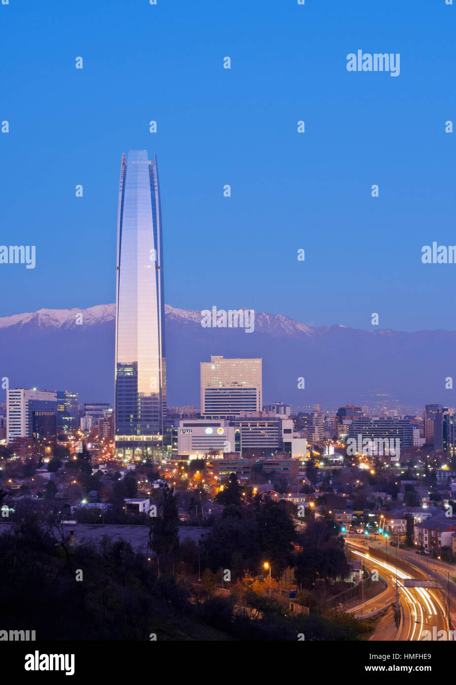
[[[201,362],[201,415],[212,419],[261,412],[261,359],[224,359]]]

